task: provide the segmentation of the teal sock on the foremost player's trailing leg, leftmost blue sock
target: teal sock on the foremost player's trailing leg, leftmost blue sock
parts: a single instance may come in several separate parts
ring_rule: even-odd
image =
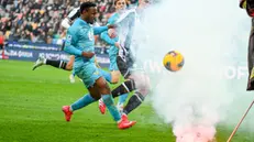
[[[73,111],[81,109],[86,106],[88,106],[91,102],[95,102],[96,100],[88,94],[85,95],[82,98],[78,99],[76,102],[74,102],[70,108]]]

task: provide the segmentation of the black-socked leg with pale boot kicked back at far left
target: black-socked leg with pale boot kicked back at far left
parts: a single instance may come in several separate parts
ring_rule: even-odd
[[[51,65],[53,67],[62,68],[62,69],[65,69],[65,70],[71,70],[73,69],[73,64],[68,64],[65,61],[47,59],[47,58],[45,58],[43,56],[40,56],[38,59],[35,62],[35,64],[33,66],[33,70],[36,69],[37,67],[42,66],[42,65]]]

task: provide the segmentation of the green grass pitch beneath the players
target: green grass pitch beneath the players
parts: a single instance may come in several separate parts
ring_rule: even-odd
[[[75,112],[66,122],[62,106],[87,92],[82,83],[68,80],[69,72],[33,63],[0,61],[0,142],[175,142],[169,124],[156,116],[148,102],[129,118],[137,123],[119,130],[111,116],[100,114],[95,102]],[[113,87],[113,86],[112,86]],[[233,128],[217,129],[225,142]],[[254,142],[250,132],[239,131],[232,142]]]

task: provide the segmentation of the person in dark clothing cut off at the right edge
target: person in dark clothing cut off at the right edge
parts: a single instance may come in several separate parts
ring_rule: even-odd
[[[247,63],[249,63],[249,80],[247,89],[254,90],[254,1],[253,0],[241,0],[240,7],[245,9],[247,14],[252,18],[252,31],[249,40],[249,53],[247,53]]]

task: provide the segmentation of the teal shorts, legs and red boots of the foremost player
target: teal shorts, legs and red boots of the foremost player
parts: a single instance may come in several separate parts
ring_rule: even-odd
[[[88,70],[85,69],[85,68],[92,68],[92,67],[95,69],[88,69]],[[91,70],[91,73],[89,73],[89,70]],[[67,121],[70,120],[74,111],[81,109],[88,106],[89,103],[95,102],[100,97],[102,97],[110,113],[112,114],[114,120],[118,121],[118,125],[120,129],[126,129],[135,124],[135,122],[129,121],[128,119],[121,119],[120,112],[118,111],[117,107],[113,103],[110,88],[107,81],[104,80],[104,78],[101,76],[99,69],[96,68],[95,65],[89,65],[84,67],[84,69],[77,73],[77,76],[82,78],[82,83],[88,88],[89,95],[84,96],[82,98],[74,102],[70,107],[69,106],[63,107],[63,111],[65,113],[65,118]]]

